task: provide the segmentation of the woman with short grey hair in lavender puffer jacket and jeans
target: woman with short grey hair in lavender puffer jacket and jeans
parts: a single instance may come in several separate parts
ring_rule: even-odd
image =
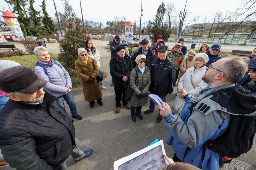
[[[62,100],[63,97],[69,105],[72,117],[81,120],[82,116],[77,114],[75,100],[71,92],[72,82],[69,73],[61,63],[50,58],[47,48],[39,46],[34,49],[34,52],[38,59],[35,67],[35,73],[47,81],[44,89],[46,89],[46,91],[51,95],[56,96],[55,101],[67,114]]]

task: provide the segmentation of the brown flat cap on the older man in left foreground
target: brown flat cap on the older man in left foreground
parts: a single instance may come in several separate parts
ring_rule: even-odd
[[[47,81],[38,77],[26,66],[15,66],[0,72],[0,89],[5,92],[32,94],[38,92]]]

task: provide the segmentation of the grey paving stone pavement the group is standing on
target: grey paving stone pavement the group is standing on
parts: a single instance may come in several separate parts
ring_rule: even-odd
[[[105,43],[108,41],[93,40],[93,45],[97,47],[101,55],[101,69],[109,74],[110,52],[109,49],[105,49]],[[148,100],[148,103],[142,107],[143,120],[137,118],[136,123],[132,122],[130,110],[124,106],[121,106],[120,113],[116,114],[114,87],[110,86],[110,83],[111,76],[108,75],[108,78],[104,80],[104,86],[107,89],[102,89],[102,107],[95,103],[94,107],[90,108],[90,103],[84,100],[81,86],[72,89],[78,114],[83,117],[82,120],[74,121],[76,137],[81,143],[81,150],[93,149],[93,154],[78,163],[75,163],[70,156],[66,160],[68,170],[112,170],[114,161],[147,147],[155,139],[163,140],[166,154],[172,158],[174,154],[172,147],[165,143],[169,134],[164,127],[164,120],[161,123],[156,122],[157,107],[154,113],[145,115],[143,112],[148,110]],[[170,106],[174,103],[176,91],[177,87],[172,94],[167,95],[166,101]],[[65,106],[71,116],[66,102]],[[251,150],[237,159],[256,166],[255,143],[254,137]],[[0,170],[9,169],[12,168],[10,166],[0,167]]]

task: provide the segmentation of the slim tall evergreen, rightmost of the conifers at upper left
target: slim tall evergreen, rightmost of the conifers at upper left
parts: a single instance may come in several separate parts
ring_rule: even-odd
[[[53,20],[49,17],[46,11],[45,0],[42,1],[42,5],[40,5],[40,7],[42,7],[42,12],[44,15],[42,19],[42,23],[44,25],[45,34],[50,35],[53,33],[53,31],[55,31],[55,25],[53,23]]]

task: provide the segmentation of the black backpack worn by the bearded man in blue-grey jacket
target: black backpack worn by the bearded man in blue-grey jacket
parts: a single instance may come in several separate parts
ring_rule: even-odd
[[[196,105],[197,103],[192,103],[188,108],[190,110],[190,116]],[[205,111],[207,107],[204,108],[200,105],[197,106],[197,109]],[[212,151],[225,156],[226,159],[224,162],[230,163],[232,160],[230,158],[237,158],[251,149],[255,132],[256,116],[230,114],[227,130],[215,140],[207,140],[203,145],[203,158],[207,147]]]

